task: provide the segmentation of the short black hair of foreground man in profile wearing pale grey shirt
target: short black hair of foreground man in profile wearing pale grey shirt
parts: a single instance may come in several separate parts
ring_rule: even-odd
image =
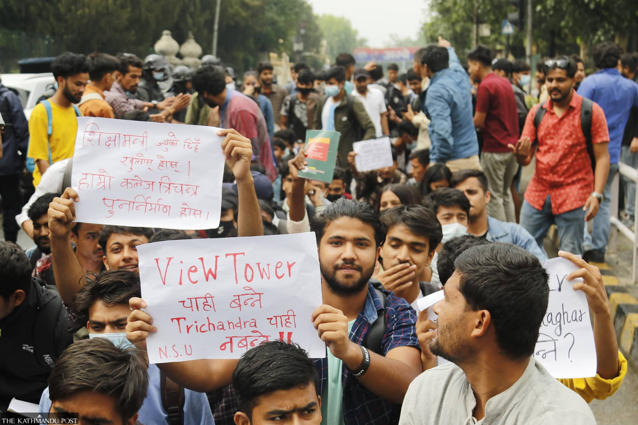
[[[537,257],[493,242],[466,250],[454,268],[468,307],[490,312],[498,347],[512,359],[530,357],[549,301],[549,275]]]

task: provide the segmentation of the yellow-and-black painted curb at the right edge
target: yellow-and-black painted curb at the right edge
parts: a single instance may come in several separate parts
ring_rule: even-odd
[[[592,264],[599,266],[598,263]],[[600,272],[609,273],[611,270],[601,268]],[[605,273],[603,274],[605,275]],[[608,276],[613,277],[611,273]],[[638,370],[638,299],[628,294],[625,287],[619,285],[605,283],[605,291],[607,298],[609,298],[609,311],[614,329],[616,329],[618,348],[623,352],[632,368]]]

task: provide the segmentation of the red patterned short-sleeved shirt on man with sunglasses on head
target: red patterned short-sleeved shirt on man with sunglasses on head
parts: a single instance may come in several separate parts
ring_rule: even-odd
[[[558,117],[549,99],[543,106],[531,108],[525,120],[522,137],[538,138],[536,169],[525,191],[525,200],[542,210],[549,194],[552,212],[560,214],[580,208],[594,189],[594,174],[590,155],[581,129],[582,96],[574,92],[565,113]],[[539,107],[547,112],[534,126],[534,115]],[[605,113],[597,103],[591,116],[591,142],[609,143]]]

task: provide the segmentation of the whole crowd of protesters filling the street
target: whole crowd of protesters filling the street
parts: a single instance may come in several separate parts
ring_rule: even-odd
[[[610,42],[591,53],[592,75],[561,56],[539,62],[534,84],[525,62],[478,45],[461,64],[439,38],[404,73],[343,53],[327,69],[294,64],[283,87],[269,62],[239,80],[212,55],[191,70],[66,52],[28,121],[0,84],[0,410],[15,398],[86,424],[595,423],[587,403],[627,373],[590,263],[604,261],[618,162],[638,166],[638,55]],[[76,222],[78,116],[219,127],[219,227]],[[341,134],[332,182],[299,176],[309,129]],[[383,136],[392,165],[357,170],[353,143]],[[633,226],[635,185],[623,183]],[[556,379],[533,357],[552,224],[593,318],[593,377]],[[16,244],[20,229],[33,247]],[[148,363],[158,329],[139,245],[309,231],[322,299],[307,319],[326,357],[271,341],[239,360]],[[433,322],[417,300],[441,288]]]

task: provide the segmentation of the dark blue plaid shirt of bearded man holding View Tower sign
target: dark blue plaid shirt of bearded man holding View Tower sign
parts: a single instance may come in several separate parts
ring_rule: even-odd
[[[394,292],[383,291],[387,294],[385,301],[385,322],[387,330],[383,336],[383,354],[397,347],[415,347],[419,349],[416,324],[417,316],[412,307],[403,298],[394,296]],[[371,324],[376,321],[378,313],[383,311],[383,303],[376,294],[375,288],[368,283],[366,304],[359,317],[355,320],[350,340],[362,344],[366,339]],[[315,368],[320,378],[319,390],[323,394],[328,380],[328,357],[314,359]],[[343,417],[346,425],[386,425],[398,424],[401,405],[373,394],[346,368],[342,366],[343,384]],[[233,425],[233,416],[239,406],[235,399],[232,385],[209,393],[213,417],[216,425]],[[325,400],[324,400],[325,402]],[[330,408],[333,408],[330,406]]]

